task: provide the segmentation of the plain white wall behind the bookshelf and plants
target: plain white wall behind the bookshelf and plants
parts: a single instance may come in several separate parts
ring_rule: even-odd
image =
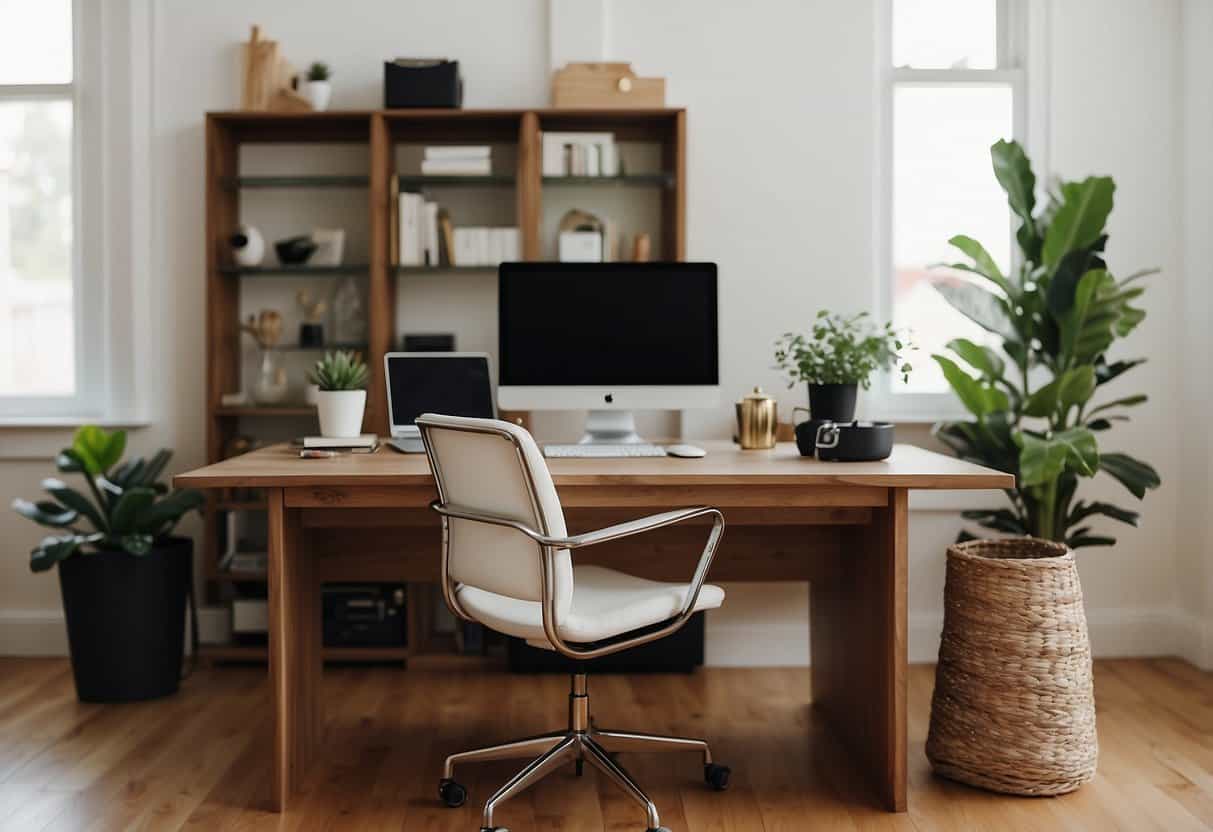
[[[237,45],[252,22],[297,63],[323,58],[332,65],[336,108],[377,107],[380,61],[395,55],[459,57],[468,107],[545,104],[551,61],[577,57],[569,50],[594,44],[600,44],[596,53],[581,57],[628,59],[642,74],[665,75],[668,102],[689,109],[688,255],[721,264],[725,399],[761,383],[779,391],[785,406],[799,404],[801,393],[785,392],[769,369],[771,337],[804,326],[819,308],[865,308],[875,296],[875,4],[556,1],[562,13],[551,22],[541,0],[352,0],[337,12],[331,5],[281,0],[155,5],[155,263],[163,277],[154,303],[164,321],[152,349],[161,357],[156,372],[165,395],[155,427],[138,437],[141,445],[175,445],[182,467],[203,458],[203,113],[238,103]],[[1185,15],[1194,7],[1208,17],[1195,1],[1184,6]],[[1180,384],[1184,370],[1171,357],[1181,352],[1179,320],[1189,337],[1203,334],[1201,354],[1209,355],[1208,319],[1200,318],[1200,309],[1208,313],[1208,290],[1203,283],[1194,289],[1196,281],[1183,272],[1185,257],[1194,263],[1209,258],[1194,252],[1191,243],[1185,249],[1181,233],[1196,210],[1208,217],[1208,188],[1200,196],[1190,189],[1186,201],[1180,194],[1183,177],[1207,166],[1194,142],[1205,139],[1207,147],[1213,125],[1202,122],[1197,136],[1189,125],[1185,135],[1185,114],[1200,106],[1207,120],[1209,97],[1195,86],[1186,98],[1179,93],[1192,74],[1211,76],[1203,53],[1189,59],[1186,72],[1180,59],[1183,46],[1208,51],[1208,25],[1191,44],[1197,35],[1181,25],[1180,0],[1067,0],[1048,8],[1053,167],[1066,177],[1115,176],[1114,268],[1158,264],[1166,272],[1146,295],[1151,314],[1129,349],[1150,355],[1151,364],[1122,384],[1149,392],[1155,404],[1116,433],[1117,445],[1160,468],[1164,486],[1150,496],[1141,529],[1117,529],[1115,549],[1081,555],[1093,639],[1101,655],[1183,648],[1196,657],[1189,650],[1197,643],[1192,622],[1207,620],[1211,593],[1191,587],[1203,577],[1207,589],[1208,535],[1198,538],[1203,549],[1194,548],[1189,531],[1195,529],[1180,525],[1180,509],[1198,507],[1181,506],[1179,486],[1207,483],[1208,465],[1180,457],[1174,437],[1181,409],[1174,401],[1186,394],[1183,410],[1200,414],[1209,399],[1207,389]],[[1090,36],[1092,19],[1100,21],[1098,36]],[[587,30],[597,36],[587,39]],[[1186,155],[1185,138],[1192,146]],[[1203,175],[1208,182],[1208,170]],[[1207,234],[1197,235],[1208,245]],[[1194,308],[1192,300],[1205,306]],[[1208,360],[1189,360],[1189,369],[1203,367],[1207,378]],[[683,424],[691,437],[728,435],[730,406],[688,414]],[[900,435],[929,443],[923,426],[905,426]],[[1213,460],[1207,440],[1203,460]],[[0,463],[0,498],[29,492],[45,466]],[[1116,488],[1103,483],[1097,490],[1121,498]],[[1191,494],[1198,501],[1207,491]],[[990,495],[992,502],[998,498]],[[933,495],[912,502],[910,648],[916,660],[929,660],[935,650],[943,552],[959,525],[958,500]],[[980,505],[980,496],[963,500]],[[53,580],[24,568],[22,552],[35,537],[0,515],[0,651],[28,642],[11,622],[6,628],[6,614],[12,619],[13,610],[32,610],[34,619],[53,622],[46,617],[57,609]],[[1181,582],[1189,586],[1183,598]],[[710,661],[805,661],[804,586],[734,585],[729,592],[725,609],[710,620]]]

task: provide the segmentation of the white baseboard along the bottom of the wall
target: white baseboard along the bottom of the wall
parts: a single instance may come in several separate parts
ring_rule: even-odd
[[[204,644],[222,643],[229,615],[203,608],[198,623]],[[939,654],[941,612],[910,616],[911,662],[933,662]],[[1180,656],[1213,669],[1213,621],[1177,609],[1101,609],[1087,611],[1090,646],[1097,659]],[[63,611],[0,610],[0,656],[66,656]],[[707,626],[705,660],[710,667],[804,667],[809,633],[799,622],[718,623]]]

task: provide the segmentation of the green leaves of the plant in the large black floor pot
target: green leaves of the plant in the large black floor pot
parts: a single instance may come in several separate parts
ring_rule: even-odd
[[[59,530],[29,553],[32,571],[46,571],[76,552],[144,555],[187,512],[203,505],[201,492],[181,489],[170,494],[160,481],[172,451],[160,450],[150,460],[137,457],[120,463],[125,450],[125,431],[81,427],[72,448],[59,451],[55,465],[59,473],[81,474],[91,498],[52,477],[42,480],[50,500],[12,501],[13,511],[22,517]]]

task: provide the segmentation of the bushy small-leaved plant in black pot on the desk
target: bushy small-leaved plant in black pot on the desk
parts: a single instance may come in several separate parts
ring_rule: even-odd
[[[866,312],[843,317],[822,309],[808,335],[786,332],[775,342],[775,366],[787,374],[788,387],[808,384],[814,420],[849,422],[859,388],[871,387],[873,372],[896,369],[909,376],[905,348],[906,336],[893,324],[876,326]]]

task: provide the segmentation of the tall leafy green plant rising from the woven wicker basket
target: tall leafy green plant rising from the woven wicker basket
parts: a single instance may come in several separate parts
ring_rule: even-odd
[[[1103,515],[1137,525],[1138,512],[1076,496],[1080,480],[1100,471],[1138,500],[1160,485],[1150,465],[1101,450],[1098,438],[1146,400],[1144,394],[1099,394],[1145,361],[1107,353],[1145,318],[1133,306],[1144,291],[1137,281],[1157,269],[1124,278],[1109,269],[1104,226],[1116,189],[1110,177],[1061,182],[1038,209],[1036,176],[1023,148],[1000,141],[990,153],[1019,221],[1019,263],[1003,273],[976,240],[949,240],[968,257],[950,268],[973,278],[938,280],[935,287],[993,334],[1001,348],[957,338],[947,344],[955,358],[934,355],[974,417],[938,424],[935,435],[957,456],[1016,477],[1018,488],[1007,491],[1010,508],[964,512],[967,519],[1074,548],[1109,546],[1116,540],[1093,534],[1089,520]]]

